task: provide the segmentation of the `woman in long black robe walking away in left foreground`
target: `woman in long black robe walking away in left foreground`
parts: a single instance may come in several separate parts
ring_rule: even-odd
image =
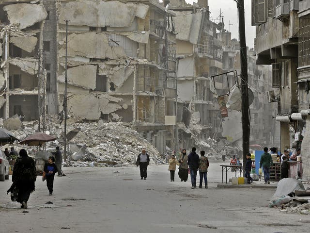
[[[37,174],[33,159],[28,156],[26,150],[20,150],[19,158],[14,164],[12,175],[13,184],[17,189],[17,202],[21,203],[20,208],[27,209],[27,201],[31,192],[34,191],[36,177]]]

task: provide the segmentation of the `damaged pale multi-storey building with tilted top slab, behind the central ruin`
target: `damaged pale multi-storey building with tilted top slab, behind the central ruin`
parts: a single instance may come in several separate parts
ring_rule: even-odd
[[[210,75],[222,71],[222,44],[216,34],[216,28],[222,26],[210,21],[207,0],[193,5],[185,0],[164,3],[170,3],[169,9],[175,13],[178,98],[182,107],[177,116],[184,114],[178,117],[180,146],[196,144],[203,148],[199,141],[221,134],[220,111],[210,91]],[[190,120],[197,123],[196,133],[188,130]]]

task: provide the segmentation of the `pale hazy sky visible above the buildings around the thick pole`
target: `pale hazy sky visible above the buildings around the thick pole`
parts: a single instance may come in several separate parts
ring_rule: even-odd
[[[187,3],[197,2],[197,0],[186,0]],[[246,42],[249,48],[254,47],[255,27],[251,26],[251,1],[244,0],[245,4],[245,25],[246,25]],[[224,17],[225,29],[229,30],[229,20],[231,21],[232,39],[239,40],[238,31],[238,10],[237,3],[234,0],[208,0],[209,11],[211,12],[210,19],[216,19],[222,9]]]

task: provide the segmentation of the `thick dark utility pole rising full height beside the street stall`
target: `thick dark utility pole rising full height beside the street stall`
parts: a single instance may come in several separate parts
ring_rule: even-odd
[[[240,65],[241,65],[241,103],[242,103],[242,158],[243,167],[246,166],[249,153],[250,122],[248,108],[248,58],[246,45],[246,31],[244,19],[244,0],[235,0],[238,7],[239,37],[240,37]]]

